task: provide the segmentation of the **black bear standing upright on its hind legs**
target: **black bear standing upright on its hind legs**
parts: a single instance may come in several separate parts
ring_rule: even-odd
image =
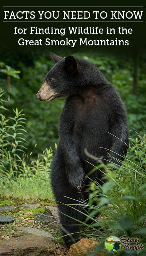
[[[73,56],[50,55],[55,65],[45,76],[36,98],[51,101],[68,96],[60,116],[51,184],[69,247],[77,240],[85,215],[79,205],[66,204],[88,199],[84,191],[89,181],[85,176],[93,169],[88,162],[97,165],[96,160],[85,154],[85,148],[89,154],[102,157],[105,164],[122,163],[128,148],[127,116],[118,92],[95,65]],[[90,178],[100,179],[101,172],[96,170]]]

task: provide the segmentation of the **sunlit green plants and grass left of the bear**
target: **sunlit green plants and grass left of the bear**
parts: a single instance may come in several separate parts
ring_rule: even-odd
[[[7,109],[3,106],[2,97],[3,91],[0,89],[0,109],[5,113]],[[1,195],[6,195],[7,190],[9,195],[26,198],[51,197],[49,173],[52,150],[46,148],[37,159],[31,158],[32,152],[26,155],[26,119],[22,110],[16,108],[13,112],[15,116],[9,118],[0,113]]]

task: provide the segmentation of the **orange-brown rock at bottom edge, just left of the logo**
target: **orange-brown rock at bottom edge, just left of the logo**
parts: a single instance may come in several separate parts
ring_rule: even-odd
[[[70,246],[68,256],[78,255],[81,254],[82,256],[86,256],[89,253],[93,252],[96,245],[98,244],[97,241],[88,238],[82,238],[76,244]],[[98,256],[103,255],[99,253]]]

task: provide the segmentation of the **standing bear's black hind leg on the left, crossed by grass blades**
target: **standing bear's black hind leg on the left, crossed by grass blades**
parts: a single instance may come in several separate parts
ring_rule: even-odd
[[[84,193],[79,192],[76,188],[73,188],[69,184],[66,177],[64,159],[62,153],[59,152],[59,150],[55,155],[52,164],[51,183],[55,199],[58,204],[60,221],[64,236],[63,238],[66,245],[70,247],[70,245],[78,241],[78,233],[80,232],[82,225],[79,221],[84,222],[85,220],[85,215],[82,214],[84,210],[81,206],[76,204],[79,204],[82,202],[82,200],[85,199]],[[69,234],[72,235],[69,236]]]

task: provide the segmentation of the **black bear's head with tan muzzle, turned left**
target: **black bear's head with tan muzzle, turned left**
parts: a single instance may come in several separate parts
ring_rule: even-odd
[[[73,56],[62,58],[52,52],[50,56],[54,66],[45,76],[44,83],[36,95],[40,101],[51,101],[70,95],[77,86],[77,60]]]

